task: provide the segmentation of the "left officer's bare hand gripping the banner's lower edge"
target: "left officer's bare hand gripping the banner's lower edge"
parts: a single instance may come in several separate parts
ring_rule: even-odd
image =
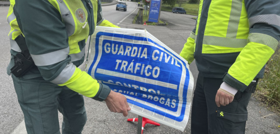
[[[124,95],[111,90],[108,97],[105,99],[106,105],[111,112],[122,113],[124,116],[128,115],[130,107]]]

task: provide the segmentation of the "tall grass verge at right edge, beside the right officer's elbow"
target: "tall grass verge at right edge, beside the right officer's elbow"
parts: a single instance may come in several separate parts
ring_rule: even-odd
[[[271,56],[265,68],[263,79],[260,79],[253,94],[263,106],[280,115],[280,50]]]

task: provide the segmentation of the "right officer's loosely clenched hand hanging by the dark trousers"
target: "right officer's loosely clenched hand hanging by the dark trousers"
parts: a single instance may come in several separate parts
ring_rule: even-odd
[[[230,102],[233,101],[234,96],[226,94],[225,92],[221,91],[220,89],[217,91],[216,94],[216,104],[218,107],[228,105]]]

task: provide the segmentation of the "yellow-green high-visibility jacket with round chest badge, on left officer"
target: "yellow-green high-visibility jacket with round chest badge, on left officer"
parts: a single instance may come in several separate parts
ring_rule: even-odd
[[[86,40],[96,25],[116,27],[102,18],[100,0],[10,0],[10,3],[7,20],[11,26],[11,54],[21,52],[15,38],[23,34],[46,81],[94,97],[99,83],[77,66],[84,61]]]

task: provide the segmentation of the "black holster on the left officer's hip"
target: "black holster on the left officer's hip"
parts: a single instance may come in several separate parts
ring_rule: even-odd
[[[15,66],[11,68],[11,73],[15,75],[15,77],[21,77],[27,71],[29,71],[35,64],[28,51],[23,35],[21,34],[17,36],[17,38],[15,38],[15,41],[19,45],[21,52],[17,53],[14,57]]]

